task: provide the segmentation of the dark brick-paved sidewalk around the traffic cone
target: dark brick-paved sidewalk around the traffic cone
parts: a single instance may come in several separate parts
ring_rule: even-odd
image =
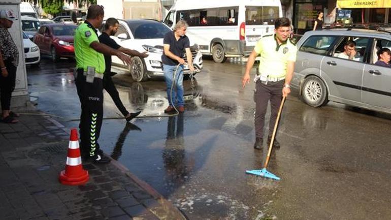
[[[86,185],[60,184],[70,129],[48,116],[18,119],[0,123],[0,219],[186,219],[114,160],[83,163],[90,178]]]

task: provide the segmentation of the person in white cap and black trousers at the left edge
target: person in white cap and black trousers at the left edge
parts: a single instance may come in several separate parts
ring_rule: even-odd
[[[2,121],[17,123],[19,115],[10,110],[11,95],[15,89],[16,70],[19,62],[19,52],[12,40],[8,28],[18,20],[11,10],[0,11],[0,101],[2,104]]]

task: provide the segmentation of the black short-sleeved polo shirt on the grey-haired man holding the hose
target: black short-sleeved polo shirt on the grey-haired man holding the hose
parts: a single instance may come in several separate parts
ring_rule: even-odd
[[[182,54],[185,52],[185,49],[190,48],[189,38],[185,35],[183,37],[180,37],[177,41],[177,39],[175,39],[174,32],[169,32],[165,35],[163,39],[163,44],[170,45],[170,51],[181,58],[183,56]],[[171,59],[170,57],[166,56],[164,52],[161,55],[161,61],[165,65],[176,66],[179,64],[177,60]]]

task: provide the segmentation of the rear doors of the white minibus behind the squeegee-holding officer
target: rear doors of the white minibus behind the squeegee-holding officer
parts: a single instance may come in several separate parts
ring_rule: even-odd
[[[245,10],[246,46],[254,47],[260,37],[274,34],[274,22],[279,17],[279,8],[277,6],[245,6]]]

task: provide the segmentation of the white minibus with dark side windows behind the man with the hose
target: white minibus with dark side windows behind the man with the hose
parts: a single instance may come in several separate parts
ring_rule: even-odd
[[[173,28],[183,19],[188,24],[190,45],[212,55],[215,62],[247,56],[258,39],[274,34],[274,22],[282,17],[280,0],[178,0],[164,23]]]

